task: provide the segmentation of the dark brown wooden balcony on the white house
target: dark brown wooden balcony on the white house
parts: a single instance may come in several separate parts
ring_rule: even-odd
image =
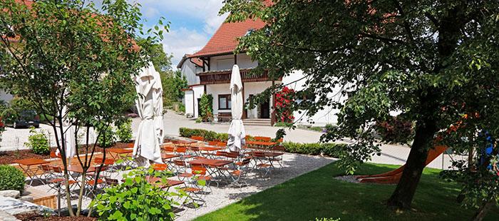
[[[251,71],[251,69],[240,70],[242,82],[270,81],[267,71],[260,74],[249,73],[249,71]],[[230,83],[231,75],[232,70],[197,73],[197,76],[200,77],[200,84]]]

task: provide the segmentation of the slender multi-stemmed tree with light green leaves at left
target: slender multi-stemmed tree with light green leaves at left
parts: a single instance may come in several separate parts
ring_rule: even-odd
[[[141,31],[140,5],[125,0],[104,0],[99,9],[80,0],[2,0],[0,8],[1,80],[11,93],[53,118],[48,123],[68,180],[66,133],[71,130],[65,121],[74,126],[76,138],[86,129],[84,145],[76,139],[79,152],[87,153],[78,155],[86,171],[98,145],[90,143],[89,131],[106,131],[133,103],[133,77],[150,60],[149,46],[161,33]],[[138,38],[139,33],[148,37]],[[81,212],[82,195],[83,188],[78,211],[70,209],[70,215]],[[67,200],[71,205],[71,197]]]

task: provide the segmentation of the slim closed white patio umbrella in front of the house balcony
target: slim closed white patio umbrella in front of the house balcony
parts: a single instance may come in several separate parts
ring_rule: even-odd
[[[245,125],[242,124],[242,108],[244,100],[242,99],[242,81],[239,71],[239,66],[232,67],[232,75],[230,76],[230,96],[231,96],[231,111],[232,122],[229,128],[229,140],[227,146],[230,151],[239,152],[243,145],[246,144]]]

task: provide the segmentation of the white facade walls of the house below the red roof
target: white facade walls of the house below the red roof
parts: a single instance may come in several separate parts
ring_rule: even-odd
[[[213,56],[210,58],[210,70],[208,70],[207,66],[205,66],[205,71],[227,71],[231,70],[232,66],[235,63],[234,55],[225,55],[225,56]],[[258,66],[257,61],[251,61],[247,54],[238,54],[237,55],[237,65],[240,66],[241,69],[245,68],[255,68]],[[230,94],[229,83],[219,83],[219,84],[207,84],[199,85],[200,78],[196,76],[195,73],[201,73],[202,68],[194,66],[188,59],[181,64],[182,75],[186,76],[188,84],[192,91],[185,91],[185,111],[187,114],[194,115],[195,118],[198,117],[198,101],[201,98],[202,94],[206,93],[211,94],[213,96],[213,114],[217,116],[220,113],[230,113],[230,109],[221,108],[220,103],[225,105],[224,96]],[[285,76],[282,79],[282,83],[287,85],[288,88],[294,89],[294,91],[300,91],[304,88],[304,83],[307,81],[303,78],[302,71],[294,71],[289,76]],[[296,81],[296,82],[295,82]],[[276,81],[274,83],[281,83]],[[257,95],[258,93],[262,93],[266,88],[272,86],[272,81],[259,81],[259,82],[246,82],[244,83],[244,99],[245,102],[248,101],[250,96]],[[205,89],[206,88],[206,89]],[[341,99],[340,94],[337,93],[339,88],[336,88],[333,93],[329,96],[334,99]],[[222,96],[222,100],[219,101],[219,96]],[[252,108],[251,110],[247,110],[246,117],[247,118],[272,118],[272,98],[269,98],[268,103],[258,104],[257,107]],[[267,108],[269,111],[267,112]],[[310,122],[314,122],[314,125],[326,125],[326,124],[334,124],[337,123],[336,114],[339,111],[333,109],[331,107],[325,106],[323,110],[320,110],[312,117],[307,117],[304,113],[294,113],[294,117],[296,123],[298,124],[310,124]]]

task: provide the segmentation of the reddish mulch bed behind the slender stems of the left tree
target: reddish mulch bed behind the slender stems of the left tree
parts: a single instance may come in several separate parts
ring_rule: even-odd
[[[111,148],[127,148],[127,143],[116,143]],[[89,148],[91,149],[91,148]],[[56,148],[52,148],[52,151],[56,151]],[[97,146],[96,153],[102,152],[103,148]],[[85,154],[85,148],[78,148],[80,154]],[[11,151],[0,151],[0,165],[1,164],[11,164],[14,160],[21,160],[26,158],[36,158],[36,159],[50,159],[50,155],[38,155],[32,153],[31,150],[11,150]]]

